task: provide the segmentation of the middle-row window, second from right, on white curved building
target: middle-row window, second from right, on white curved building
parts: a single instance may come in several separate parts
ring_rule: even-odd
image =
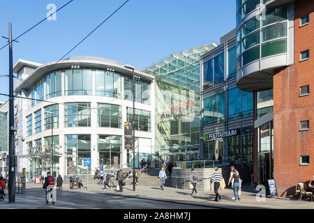
[[[120,106],[98,103],[98,127],[121,128]]]

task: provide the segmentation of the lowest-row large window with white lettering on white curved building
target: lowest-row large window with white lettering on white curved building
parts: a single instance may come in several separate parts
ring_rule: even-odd
[[[69,174],[69,162],[73,162],[75,174],[86,174],[84,158],[91,157],[91,135],[90,134],[66,134],[66,174]]]

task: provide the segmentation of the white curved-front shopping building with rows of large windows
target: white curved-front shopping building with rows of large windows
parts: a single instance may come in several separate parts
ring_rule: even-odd
[[[124,122],[133,117],[132,70],[93,56],[43,65],[19,60],[13,70],[18,173],[24,167],[27,180],[33,180],[52,171],[45,150],[51,145],[54,176],[86,174],[82,160],[89,157],[91,169],[132,167],[133,153],[124,148]],[[154,76],[137,69],[135,75],[138,166],[154,153]]]

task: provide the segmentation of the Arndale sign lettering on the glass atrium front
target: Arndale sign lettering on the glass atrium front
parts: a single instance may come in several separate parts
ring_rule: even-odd
[[[194,114],[194,101],[173,105],[170,110],[161,113],[160,118],[170,118]]]

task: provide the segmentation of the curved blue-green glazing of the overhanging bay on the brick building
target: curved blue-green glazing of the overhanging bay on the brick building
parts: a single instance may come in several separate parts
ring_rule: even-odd
[[[242,2],[239,0],[237,13],[244,18],[266,2],[266,0]],[[240,21],[237,18],[237,25]],[[287,6],[266,8],[265,13],[263,11],[237,27],[237,70],[257,59],[286,52]]]

